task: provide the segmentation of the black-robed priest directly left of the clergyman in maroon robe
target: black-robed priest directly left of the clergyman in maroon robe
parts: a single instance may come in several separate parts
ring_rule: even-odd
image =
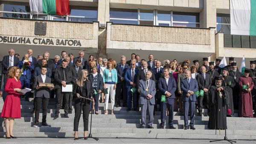
[[[239,78],[242,76],[242,73],[237,70],[236,63],[231,63],[231,71],[229,71],[229,75],[234,78],[236,81],[236,85],[232,88],[233,91],[233,104],[234,104],[234,109],[238,109],[238,100],[239,100]]]

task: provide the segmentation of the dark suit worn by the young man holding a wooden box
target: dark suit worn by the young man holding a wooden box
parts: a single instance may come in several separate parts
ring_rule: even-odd
[[[43,79],[41,75],[35,76],[34,86],[35,89],[39,83],[51,83],[51,78],[47,77],[45,78],[45,81],[43,82]],[[38,122],[39,120],[39,112],[41,109],[41,104],[43,105],[43,118],[42,123],[46,122],[46,116],[47,116],[47,107],[48,102],[50,98],[50,92],[49,88],[39,88],[35,90],[35,122]]]

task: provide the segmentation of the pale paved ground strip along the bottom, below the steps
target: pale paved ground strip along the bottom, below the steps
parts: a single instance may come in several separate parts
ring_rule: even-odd
[[[192,139],[137,139],[137,138],[100,138],[99,141],[94,139],[79,139],[74,141],[73,138],[17,138],[6,139],[0,138],[1,144],[207,144],[209,140],[192,140]],[[256,141],[237,141],[236,144],[255,144]],[[230,144],[227,141],[212,142],[211,144]]]

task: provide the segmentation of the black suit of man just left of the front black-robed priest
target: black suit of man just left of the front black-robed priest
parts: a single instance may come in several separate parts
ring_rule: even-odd
[[[196,80],[198,81],[198,90],[204,90],[208,89],[212,85],[212,79],[209,74],[205,74],[205,79],[203,74],[199,74],[196,76]],[[202,109],[203,109],[203,99],[206,99],[206,107],[207,107],[207,112],[209,113],[209,94],[208,92],[204,92],[204,96],[199,96],[198,97],[198,111],[201,114]]]

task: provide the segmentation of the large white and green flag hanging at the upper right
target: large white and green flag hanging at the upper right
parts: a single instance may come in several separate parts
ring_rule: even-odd
[[[256,35],[256,0],[230,0],[231,35]]]

